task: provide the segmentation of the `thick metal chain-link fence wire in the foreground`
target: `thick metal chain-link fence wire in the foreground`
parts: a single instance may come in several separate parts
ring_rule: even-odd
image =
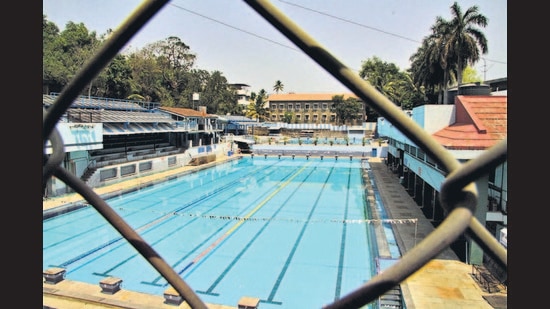
[[[325,306],[325,308],[359,308],[378,299],[400,282],[448,248],[459,236],[474,240],[492,259],[507,269],[507,249],[473,216],[478,207],[476,179],[488,174],[507,160],[507,138],[485,150],[478,158],[459,163],[452,154],[437,143],[426,131],[407,117],[388,98],[379,93],[357,73],[346,67],[269,1],[244,0],[259,15],[278,29],[312,60],[317,62],[363,102],[388,119],[404,135],[449,171],[442,184],[440,200],[448,211],[447,217],[430,235],[419,242],[402,258],[354,291]],[[79,193],[172,285],[192,308],[207,308],[193,289],[166,263],[162,257],[92,188],[65,170],[63,140],[55,129],[57,122],[71,103],[91,80],[119,53],[128,41],[162,8],[168,0],[143,1],[113,32],[102,48],[83,66],[63,89],[54,104],[43,114],[43,147],[49,141],[53,152],[43,155],[43,184],[55,176]]]

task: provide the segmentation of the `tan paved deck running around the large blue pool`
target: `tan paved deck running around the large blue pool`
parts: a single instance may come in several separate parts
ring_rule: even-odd
[[[173,177],[178,174],[196,169],[206,168],[227,160],[237,159],[238,156],[222,156],[215,162],[201,166],[184,166],[170,171],[155,173],[139,179],[130,179],[119,183],[95,188],[100,195],[123,193],[131,188],[139,187],[143,183],[158,181]],[[434,230],[432,224],[426,219],[410,197],[405,188],[399,184],[399,178],[393,174],[380,158],[368,158],[374,179],[387,214],[393,219],[418,219],[417,225],[396,224],[396,240],[404,252],[413,248],[426,235]],[[56,207],[83,202],[79,194],[67,194],[55,198],[43,200],[43,210],[51,210]],[[383,240],[379,240],[383,241]],[[401,283],[401,290],[407,309],[491,309],[507,308],[506,291],[487,293],[476,283],[472,277],[472,266],[461,262],[450,249],[440,253],[436,259],[423,266],[415,274]],[[62,280],[58,283],[43,283],[44,308],[190,308],[186,302],[180,305],[165,303],[162,295],[150,295],[124,290],[124,284],[120,291],[114,294],[101,292],[97,285]],[[255,295],[243,295],[251,296]],[[484,298],[485,297],[485,298]],[[487,299],[487,300],[486,300]],[[491,304],[489,303],[491,302]],[[207,304],[212,309],[237,308]]]

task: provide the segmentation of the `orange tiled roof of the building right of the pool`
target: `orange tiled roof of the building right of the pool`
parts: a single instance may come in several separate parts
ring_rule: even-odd
[[[507,136],[507,96],[457,96],[456,121],[432,136],[448,149],[487,149]]]

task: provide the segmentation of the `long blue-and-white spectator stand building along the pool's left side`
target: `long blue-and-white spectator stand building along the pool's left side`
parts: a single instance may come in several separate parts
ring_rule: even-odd
[[[43,95],[43,108],[57,94]],[[222,143],[226,122],[216,115],[158,103],[100,97],[79,97],[56,124],[65,157],[63,168],[91,187],[135,178],[188,164],[194,157],[226,153]],[[45,155],[53,154],[48,140]],[[69,193],[51,177],[44,196]]]

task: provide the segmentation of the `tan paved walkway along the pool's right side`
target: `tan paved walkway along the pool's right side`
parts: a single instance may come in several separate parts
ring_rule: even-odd
[[[380,158],[369,158],[376,187],[389,217],[418,219],[414,224],[393,225],[402,254],[429,235],[434,227],[414,199],[399,183],[398,175]],[[452,249],[446,249],[401,284],[407,309],[506,308],[507,294],[486,293],[471,276],[472,266],[460,261]],[[489,304],[484,296],[492,296]]]

